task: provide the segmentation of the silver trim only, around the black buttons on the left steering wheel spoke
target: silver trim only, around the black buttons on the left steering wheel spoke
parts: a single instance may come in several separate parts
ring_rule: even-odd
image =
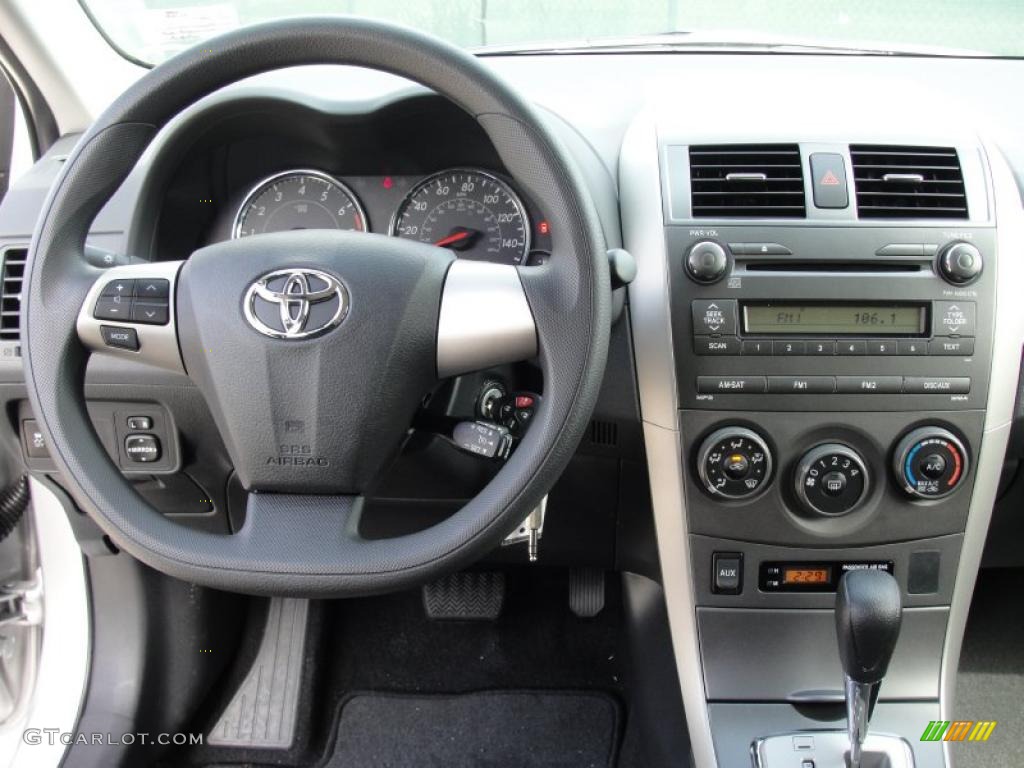
[[[125,264],[123,266],[112,266],[104,269],[102,273],[92,284],[89,293],[82,302],[82,308],[78,312],[78,338],[85,346],[93,352],[114,355],[116,357],[126,357],[138,362],[147,362],[151,366],[167,369],[174,373],[185,373],[184,364],[181,361],[181,349],[178,346],[178,326],[175,312],[175,290],[177,288],[178,272],[184,261],[154,261],[140,264]],[[166,326],[150,326],[142,323],[132,323],[130,321],[105,321],[96,319],[92,316],[96,299],[102,293],[108,283],[114,280],[139,280],[139,279],[162,278],[170,283],[170,293],[168,295],[168,323]],[[134,329],[138,335],[138,350],[121,349],[119,347],[108,346],[103,342],[100,326],[119,326],[122,328]]]

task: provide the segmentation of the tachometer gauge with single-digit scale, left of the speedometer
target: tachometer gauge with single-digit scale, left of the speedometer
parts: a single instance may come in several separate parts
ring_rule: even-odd
[[[365,231],[367,215],[352,190],[321,171],[286,171],[260,181],[234,216],[233,238],[289,229]]]

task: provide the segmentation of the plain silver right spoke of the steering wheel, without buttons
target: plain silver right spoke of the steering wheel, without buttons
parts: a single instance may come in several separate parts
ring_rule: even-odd
[[[537,356],[537,324],[516,267],[456,259],[437,316],[437,376]]]

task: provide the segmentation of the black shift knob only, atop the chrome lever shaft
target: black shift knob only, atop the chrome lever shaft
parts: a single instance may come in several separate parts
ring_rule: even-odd
[[[856,683],[879,683],[899,637],[899,585],[885,570],[851,570],[836,593],[836,635],[843,672]]]

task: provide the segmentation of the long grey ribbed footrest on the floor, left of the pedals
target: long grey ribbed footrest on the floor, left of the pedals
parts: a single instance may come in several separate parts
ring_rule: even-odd
[[[256,659],[207,743],[259,750],[292,745],[308,614],[308,600],[270,598]]]

